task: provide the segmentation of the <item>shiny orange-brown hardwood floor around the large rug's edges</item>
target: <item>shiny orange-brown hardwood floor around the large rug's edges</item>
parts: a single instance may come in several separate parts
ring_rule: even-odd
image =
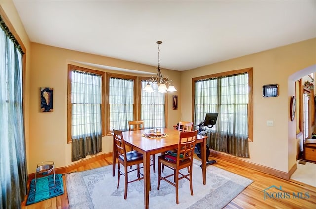
[[[304,183],[296,182],[294,180],[284,180],[269,174],[248,169],[236,164],[210,157],[217,161],[214,166],[225,169],[242,175],[246,178],[252,179],[254,182],[242,191],[235,199],[233,199],[225,209],[315,209],[316,208],[316,187],[306,185]],[[84,171],[88,169],[98,168],[112,164],[112,157],[97,160],[93,163],[88,163],[76,169],[67,171]],[[58,197],[54,197],[39,203],[25,206],[26,199],[22,203],[22,209],[68,209],[67,189],[65,185],[65,193]],[[208,179],[207,179],[208,180]],[[264,196],[264,190],[270,188],[267,192],[269,196]],[[286,193],[287,194],[286,194]],[[295,193],[295,195],[293,195]],[[143,198],[143,196],[142,196]]]

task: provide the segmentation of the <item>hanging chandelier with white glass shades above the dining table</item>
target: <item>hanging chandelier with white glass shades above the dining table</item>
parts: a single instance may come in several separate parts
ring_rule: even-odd
[[[166,93],[166,92],[174,92],[177,91],[176,88],[172,85],[172,80],[170,80],[168,77],[163,77],[161,74],[160,69],[160,44],[162,41],[157,41],[158,44],[158,67],[157,67],[157,75],[156,77],[151,77],[147,79],[147,84],[145,88],[143,89],[145,92],[154,92],[154,89],[151,86],[151,83],[154,85],[158,85],[158,92],[160,93]],[[168,85],[168,88],[167,88]]]

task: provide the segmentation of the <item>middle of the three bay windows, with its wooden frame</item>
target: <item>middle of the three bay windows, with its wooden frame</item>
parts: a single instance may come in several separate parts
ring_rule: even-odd
[[[106,73],[107,75],[107,133],[112,129],[128,130],[128,121],[137,118],[136,85],[137,77]]]

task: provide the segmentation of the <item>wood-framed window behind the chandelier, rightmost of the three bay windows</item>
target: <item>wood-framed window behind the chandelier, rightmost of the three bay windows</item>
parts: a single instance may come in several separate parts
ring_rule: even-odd
[[[144,121],[144,128],[166,127],[166,94],[159,93],[157,85],[153,86],[153,93],[143,91],[147,78],[140,77],[139,80],[141,91],[139,118]]]

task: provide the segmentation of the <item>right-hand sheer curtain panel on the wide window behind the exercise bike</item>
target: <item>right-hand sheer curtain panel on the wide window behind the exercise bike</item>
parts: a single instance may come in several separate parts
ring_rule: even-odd
[[[220,117],[211,148],[248,158],[248,74],[222,77],[218,88]]]

